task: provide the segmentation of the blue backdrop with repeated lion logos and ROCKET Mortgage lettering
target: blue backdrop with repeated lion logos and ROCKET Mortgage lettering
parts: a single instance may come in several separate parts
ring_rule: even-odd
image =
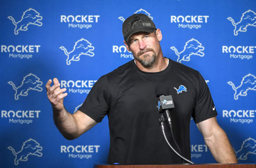
[[[1,167],[87,168],[107,162],[107,117],[66,140],[53,122],[45,84],[57,77],[67,89],[66,109],[76,111],[99,77],[133,59],[122,35],[123,20],[133,13],[147,14],[160,28],[164,56],[201,72],[239,163],[256,163],[255,0],[0,4]],[[194,121],[191,157],[216,163]]]

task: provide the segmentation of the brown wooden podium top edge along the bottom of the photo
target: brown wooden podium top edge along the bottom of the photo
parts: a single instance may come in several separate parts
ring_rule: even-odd
[[[256,168],[256,164],[94,165],[94,168]]]

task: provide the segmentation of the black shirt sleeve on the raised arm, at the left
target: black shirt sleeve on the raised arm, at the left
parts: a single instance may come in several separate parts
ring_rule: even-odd
[[[104,75],[92,86],[83,105],[78,110],[96,122],[101,122],[109,111],[108,102],[107,77]]]

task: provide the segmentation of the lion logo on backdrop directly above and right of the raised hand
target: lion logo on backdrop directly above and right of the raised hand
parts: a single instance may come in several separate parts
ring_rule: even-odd
[[[94,50],[94,47],[92,47],[92,44],[88,42],[88,40],[85,40],[84,38],[81,38],[78,40],[73,50],[68,52],[65,47],[59,47],[59,49],[62,49],[68,58],[66,59],[66,65],[70,65],[71,61],[79,61],[81,55],[87,55],[87,56],[94,56],[94,53],[92,52]]]

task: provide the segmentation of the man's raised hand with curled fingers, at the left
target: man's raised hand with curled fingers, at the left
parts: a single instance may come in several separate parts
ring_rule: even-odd
[[[57,110],[61,111],[64,109],[63,105],[63,98],[66,97],[68,94],[63,93],[66,91],[66,88],[60,88],[60,83],[57,78],[53,79],[53,86],[51,86],[52,80],[49,79],[45,85],[47,90],[47,98],[50,100],[52,107]]]

